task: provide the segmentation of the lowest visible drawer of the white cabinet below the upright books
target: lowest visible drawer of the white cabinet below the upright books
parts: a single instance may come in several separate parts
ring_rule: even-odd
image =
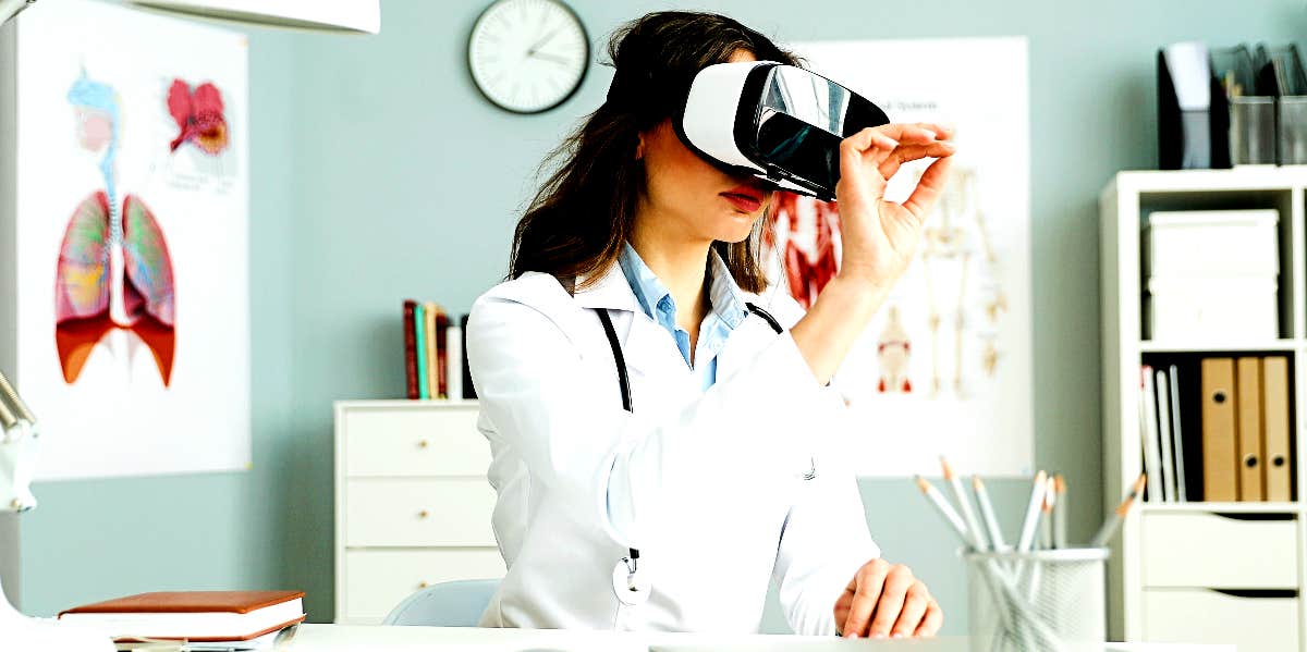
[[[503,574],[497,547],[346,550],[341,619],[379,623],[400,601],[431,584]]]

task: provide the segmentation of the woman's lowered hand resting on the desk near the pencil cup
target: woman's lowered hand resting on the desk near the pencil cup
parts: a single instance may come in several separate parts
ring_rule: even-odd
[[[835,601],[835,623],[850,639],[933,636],[944,611],[911,568],[872,559]]]

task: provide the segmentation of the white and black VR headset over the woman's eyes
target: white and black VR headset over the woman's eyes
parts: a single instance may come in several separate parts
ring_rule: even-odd
[[[686,148],[725,172],[831,201],[839,142],[889,122],[869,99],[812,71],[740,61],[699,71],[673,124]]]

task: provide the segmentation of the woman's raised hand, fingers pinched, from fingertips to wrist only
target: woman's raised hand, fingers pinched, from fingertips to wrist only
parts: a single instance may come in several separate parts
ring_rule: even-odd
[[[948,180],[954,145],[946,127],[929,123],[869,127],[839,146],[839,201],[844,278],[887,289],[907,269],[921,225]],[[885,200],[899,166],[935,157],[907,201]]]

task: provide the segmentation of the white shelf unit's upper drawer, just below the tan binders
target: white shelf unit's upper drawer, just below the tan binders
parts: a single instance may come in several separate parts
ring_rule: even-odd
[[[1298,524],[1216,513],[1142,516],[1145,587],[1298,588]]]

